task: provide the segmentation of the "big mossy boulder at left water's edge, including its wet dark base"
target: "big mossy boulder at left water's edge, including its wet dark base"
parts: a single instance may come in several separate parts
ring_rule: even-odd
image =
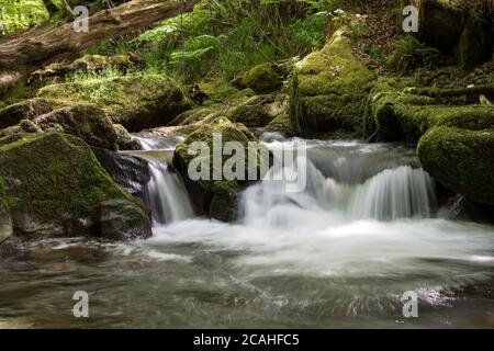
[[[120,233],[111,238],[150,236],[150,222],[142,203],[123,192],[91,149],[71,135],[40,133],[0,138],[0,184],[15,236],[106,235],[111,230],[101,230],[101,223],[108,222],[109,212],[102,208],[108,208],[105,202],[111,200],[125,203],[112,207]]]

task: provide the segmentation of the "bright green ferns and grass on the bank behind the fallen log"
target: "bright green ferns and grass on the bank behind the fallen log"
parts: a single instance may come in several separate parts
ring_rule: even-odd
[[[205,0],[192,12],[162,21],[135,38],[87,50],[135,52],[144,70],[192,82],[209,75],[232,80],[266,61],[283,61],[321,48],[329,13],[341,1]]]

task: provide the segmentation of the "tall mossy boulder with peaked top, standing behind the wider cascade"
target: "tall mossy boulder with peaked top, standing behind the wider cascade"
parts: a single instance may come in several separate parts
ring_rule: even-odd
[[[306,136],[337,129],[362,132],[374,80],[374,72],[353,56],[345,32],[336,32],[323,49],[296,65],[290,99],[293,129]]]

